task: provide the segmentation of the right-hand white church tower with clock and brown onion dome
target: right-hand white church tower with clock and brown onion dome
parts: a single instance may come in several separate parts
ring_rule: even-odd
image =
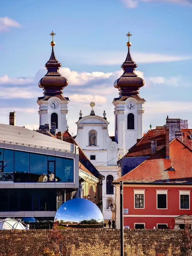
[[[127,36],[130,38],[130,32]],[[121,66],[123,75],[114,82],[114,87],[119,90],[119,98],[113,100],[115,141],[122,155],[137,142],[137,139],[143,137],[143,105],[145,103],[145,100],[139,96],[139,89],[144,85],[144,80],[135,74],[137,64],[131,57],[130,41],[127,46],[128,54]]]

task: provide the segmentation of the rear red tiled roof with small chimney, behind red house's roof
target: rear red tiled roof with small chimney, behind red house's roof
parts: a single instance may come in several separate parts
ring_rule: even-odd
[[[157,151],[165,146],[165,129],[149,130],[124,157],[144,157],[151,155],[151,140],[157,141]]]

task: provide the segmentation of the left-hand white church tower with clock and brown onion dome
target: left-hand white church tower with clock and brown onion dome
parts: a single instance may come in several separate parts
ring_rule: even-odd
[[[50,59],[46,62],[46,75],[40,79],[38,86],[43,88],[44,96],[39,97],[39,126],[56,123],[56,132],[65,131],[67,127],[67,104],[69,99],[63,96],[63,89],[67,86],[68,80],[59,73],[61,63],[56,59],[54,53],[55,42],[51,34],[52,51]]]

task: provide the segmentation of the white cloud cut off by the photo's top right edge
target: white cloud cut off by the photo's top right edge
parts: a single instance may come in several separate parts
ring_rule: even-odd
[[[169,2],[173,4],[182,4],[182,5],[190,5],[192,6],[191,0],[121,0],[123,5],[126,8],[136,8],[138,2]]]

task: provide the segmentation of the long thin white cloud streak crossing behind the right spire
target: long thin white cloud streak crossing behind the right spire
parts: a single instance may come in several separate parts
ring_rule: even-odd
[[[71,53],[73,56],[74,53]],[[173,62],[192,59],[192,56],[172,56],[160,53],[140,53],[131,52],[134,61],[138,63],[159,63],[159,62]],[[79,59],[82,64],[113,66],[121,65],[125,61],[126,52],[89,52],[81,53]],[[110,73],[109,73],[110,74]]]

